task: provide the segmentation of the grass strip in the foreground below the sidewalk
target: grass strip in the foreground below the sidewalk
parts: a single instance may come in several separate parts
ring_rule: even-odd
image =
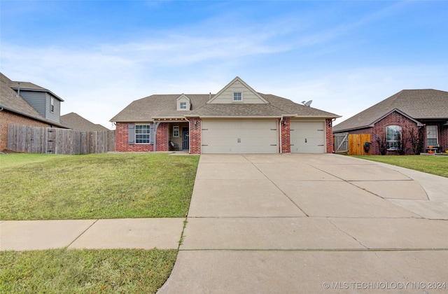
[[[0,293],[156,293],[176,250],[0,251]]]

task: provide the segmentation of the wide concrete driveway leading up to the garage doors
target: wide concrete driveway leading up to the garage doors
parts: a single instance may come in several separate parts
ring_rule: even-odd
[[[340,155],[202,155],[159,293],[443,293],[448,179]]]

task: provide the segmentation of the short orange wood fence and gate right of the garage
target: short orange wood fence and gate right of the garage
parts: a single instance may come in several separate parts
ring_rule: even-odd
[[[370,134],[334,134],[335,153],[348,153],[349,155],[370,155],[372,141]],[[369,151],[365,151],[364,145],[370,145]]]

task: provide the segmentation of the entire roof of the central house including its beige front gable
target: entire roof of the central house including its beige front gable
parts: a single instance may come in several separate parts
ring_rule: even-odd
[[[235,90],[244,90],[242,102],[231,102]],[[225,94],[228,100],[225,100]],[[249,98],[248,98],[249,97]],[[190,100],[190,109],[179,111],[179,102]],[[253,99],[251,101],[251,99]],[[176,107],[176,105],[178,107]],[[297,104],[272,94],[255,92],[236,77],[218,94],[154,94],[135,100],[112,122],[151,122],[155,120],[184,120],[185,118],[339,118],[334,113]]]

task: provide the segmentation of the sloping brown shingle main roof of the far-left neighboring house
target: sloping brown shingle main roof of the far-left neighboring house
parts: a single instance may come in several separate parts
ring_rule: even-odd
[[[17,97],[17,92],[10,87],[13,83],[17,85],[17,82],[13,82],[3,73],[0,73],[0,107],[7,111],[18,113],[22,116],[27,116],[43,123],[48,123],[49,125],[64,127],[62,124],[55,123],[52,120],[47,120],[41,116],[41,113],[38,113],[38,111],[36,111],[36,109],[34,109],[34,107],[31,106],[25,99],[21,96]]]

